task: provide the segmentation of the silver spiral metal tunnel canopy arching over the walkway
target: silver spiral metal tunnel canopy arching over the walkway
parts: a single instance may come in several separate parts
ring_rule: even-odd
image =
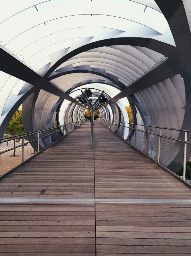
[[[0,136],[21,104],[26,132],[82,120],[86,87],[105,91],[103,119],[128,122],[129,100],[135,123],[190,129],[190,10],[186,0],[0,1]]]

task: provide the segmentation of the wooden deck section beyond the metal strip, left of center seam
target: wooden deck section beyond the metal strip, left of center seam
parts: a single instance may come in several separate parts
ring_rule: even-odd
[[[1,179],[0,197],[94,198],[90,132],[88,124],[78,127]]]

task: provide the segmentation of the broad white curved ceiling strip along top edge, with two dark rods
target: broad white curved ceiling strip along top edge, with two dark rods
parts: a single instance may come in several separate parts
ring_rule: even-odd
[[[104,15],[105,17],[120,17],[121,19],[128,19],[150,27],[160,34],[164,33],[168,27],[168,23],[162,13],[150,7],[147,7],[147,10],[144,11],[145,7],[143,5],[132,1],[53,0],[41,3],[37,5],[37,8],[38,11],[34,6],[25,9],[2,23],[4,27],[10,29],[12,38],[21,34],[23,31],[44,22],[46,23],[49,20],[75,15]],[[24,24],[23,19],[26,20]],[[5,42],[9,42],[12,38],[7,35]]]

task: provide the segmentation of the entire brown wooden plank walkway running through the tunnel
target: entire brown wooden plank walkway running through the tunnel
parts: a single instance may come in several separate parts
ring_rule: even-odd
[[[190,256],[185,199],[190,188],[98,121],[91,146],[84,123],[0,180],[0,256]]]

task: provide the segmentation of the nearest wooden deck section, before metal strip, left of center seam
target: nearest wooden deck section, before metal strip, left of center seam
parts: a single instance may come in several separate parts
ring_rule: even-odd
[[[6,218],[0,220],[0,255],[95,256],[94,203],[2,203],[0,208]]]

